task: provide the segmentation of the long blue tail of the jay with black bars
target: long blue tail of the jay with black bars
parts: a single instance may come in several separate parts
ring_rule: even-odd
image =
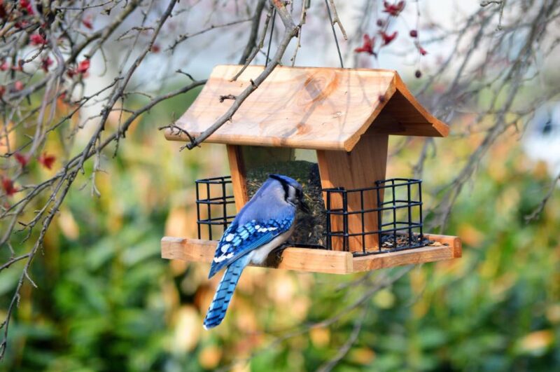
[[[225,317],[225,311],[228,310],[228,305],[230,304],[241,271],[247,266],[248,261],[248,256],[241,257],[225,269],[222,280],[216,289],[214,300],[212,300],[210,308],[204,318],[205,329],[214,328],[222,322]]]

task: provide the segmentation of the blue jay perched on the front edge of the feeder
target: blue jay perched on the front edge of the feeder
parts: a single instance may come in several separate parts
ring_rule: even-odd
[[[298,207],[309,212],[302,186],[290,177],[271,174],[241,208],[216,247],[208,278],[226,269],[204,318],[205,329],[222,322],[245,266],[250,262],[262,264],[272,249],[290,237]]]

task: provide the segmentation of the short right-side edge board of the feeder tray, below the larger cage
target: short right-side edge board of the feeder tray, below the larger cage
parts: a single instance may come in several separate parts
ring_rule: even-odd
[[[400,252],[370,254],[353,258],[353,272],[392,268],[394,266],[416,265],[418,263],[442,261],[461,257],[461,240],[456,236],[426,235],[441,245],[407,249]],[[449,245],[444,245],[449,244]]]

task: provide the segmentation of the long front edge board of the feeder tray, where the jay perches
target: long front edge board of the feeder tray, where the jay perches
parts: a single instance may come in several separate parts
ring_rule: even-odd
[[[162,258],[211,263],[218,242],[183,237],[163,237]],[[274,261],[274,260],[272,260]],[[281,259],[267,261],[267,268],[309,271],[313,273],[347,274],[352,272],[352,254],[325,249],[286,248]]]

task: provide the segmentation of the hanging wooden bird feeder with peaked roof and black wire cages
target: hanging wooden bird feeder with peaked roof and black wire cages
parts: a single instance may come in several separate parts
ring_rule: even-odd
[[[186,132],[200,135],[230,108],[233,100],[221,97],[239,95],[264,67],[247,67],[231,81],[239,69],[214,68],[176,123],[181,130],[167,130],[166,138],[188,141]],[[227,226],[233,218],[227,205],[235,202],[239,211],[248,201],[251,167],[293,160],[294,149],[309,149],[316,151],[326,244],[319,247],[323,249],[288,247],[269,267],[346,274],[460,257],[458,237],[423,233],[421,181],[385,179],[389,135],[445,137],[448,132],[414,99],[396,71],[276,67],[232,120],[207,139],[227,146],[231,177],[199,181],[199,236],[164,237],[162,256],[210,263],[220,236],[213,240],[209,229],[209,239],[200,239],[201,223]],[[207,189],[204,198],[201,184]],[[216,184],[221,194],[212,197],[210,185]],[[233,195],[227,195],[226,184]],[[397,196],[398,188],[405,191],[404,198]],[[206,219],[200,205],[208,209]],[[211,217],[216,207],[222,214]],[[417,209],[419,213],[413,212]]]

